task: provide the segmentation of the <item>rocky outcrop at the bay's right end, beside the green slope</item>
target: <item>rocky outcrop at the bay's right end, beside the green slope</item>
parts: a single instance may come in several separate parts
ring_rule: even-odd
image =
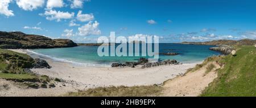
[[[211,47],[209,49],[213,51],[219,51],[224,55],[229,55],[229,53],[231,53],[234,48],[230,47],[229,45],[217,45],[217,47]]]

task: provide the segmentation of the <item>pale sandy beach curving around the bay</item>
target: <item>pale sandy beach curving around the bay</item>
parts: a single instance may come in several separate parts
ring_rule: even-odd
[[[19,53],[28,53],[26,49],[11,49]],[[15,93],[5,93],[5,96],[58,96],[67,92],[77,92],[88,88],[99,86],[134,86],[134,85],[154,85],[162,84],[168,79],[184,74],[188,68],[195,67],[196,64],[164,65],[154,68],[111,68],[111,67],[82,67],[71,63],[55,61],[39,55],[30,55],[33,58],[44,59],[52,67],[51,69],[32,69],[34,73],[47,75],[53,78],[60,78],[65,82],[56,84],[56,88],[50,89],[21,89]],[[1,84],[8,81],[0,81]],[[1,85],[0,84],[0,85]],[[10,87],[18,89],[17,87]],[[26,92],[26,93],[24,93]]]

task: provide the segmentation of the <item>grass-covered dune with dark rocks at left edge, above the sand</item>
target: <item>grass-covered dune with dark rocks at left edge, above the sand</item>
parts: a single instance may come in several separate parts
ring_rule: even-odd
[[[25,68],[32,68],[33,63],[34,59],[26,54],[0,49],[0,78],[19,82],[49,82],[48,76],[24,71]]]

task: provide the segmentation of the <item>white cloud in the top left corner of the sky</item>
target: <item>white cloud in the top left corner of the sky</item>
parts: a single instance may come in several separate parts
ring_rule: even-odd
[[[0,14],[6,15],[6,16],[14,16],[13,11],[9,10],[9,3],[12,0],[1,0],[0,1]]]

